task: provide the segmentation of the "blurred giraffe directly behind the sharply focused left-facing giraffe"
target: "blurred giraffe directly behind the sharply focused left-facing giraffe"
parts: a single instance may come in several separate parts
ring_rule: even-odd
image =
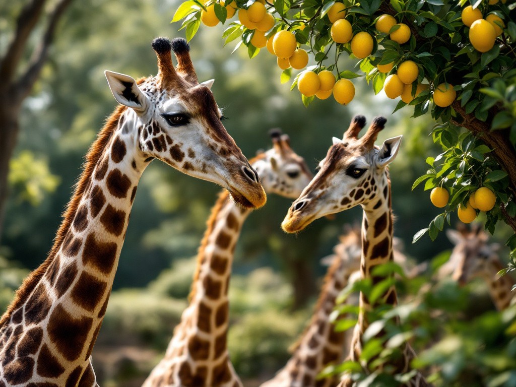
[[[293,354],[287,364],[260,387],[330,387],[337,383],[334,377],[319,380],[316,377],[326,366],[342,361],[344,349],[349,348],[349,330],[336,332],[330,314],[338,294],[357,279],[362,251],[360,229],[346,228],[333,251],[333,255],[323,259],[330,261],[330,266],[310,324],[291,348]]]

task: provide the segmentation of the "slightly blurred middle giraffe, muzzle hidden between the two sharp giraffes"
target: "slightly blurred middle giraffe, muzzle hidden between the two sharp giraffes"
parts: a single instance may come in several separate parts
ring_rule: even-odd
[[[258,154],[251,165],[267,193],[295,199],[312,179],[312,173],[290,147],[288,136],[274,131],[272,149]],[[241,386],[229,359],[228,287],[235,245],[251,213],[221,192],[207,221],[199,248],[190,303],[174,329],[165,357],[152,370],[143,387]]]

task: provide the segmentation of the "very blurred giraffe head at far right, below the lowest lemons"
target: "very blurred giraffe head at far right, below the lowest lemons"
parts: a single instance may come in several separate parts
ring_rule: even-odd
[[[488,235],[478,225],[471,231],[463,225],[457,230],[446,230],[446,236],[455,247],[448,262],[441,266],[439,277],[451,274],[460,285],[478,277],[495,280],[493,272],[504,267],[497,254],[500,245],[489,244]]]

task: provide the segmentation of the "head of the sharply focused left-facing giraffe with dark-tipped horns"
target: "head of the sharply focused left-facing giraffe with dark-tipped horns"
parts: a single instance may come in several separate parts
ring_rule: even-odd
[[[366,134],[358,138],[365,118],[356,116],[342,139],[333,138],[333,145],[319,163],[319,172],[288,209],[281,225],[283,230],[300,231],[315,219],[358,204],[365,211],[373,211],[387,200],[387,166],[398,153],[401,136],[376,147],[376,138],[385,122],[383,117],[376,118]]]

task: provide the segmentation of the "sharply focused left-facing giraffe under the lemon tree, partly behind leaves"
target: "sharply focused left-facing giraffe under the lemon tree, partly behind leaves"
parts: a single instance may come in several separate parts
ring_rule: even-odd
[[[360,204],[363,209],[360,272],[361,278],[370,278],[373,285],[384,277],[372,275],[371,270],[393,260],[391,183],[387,167],[398,153],[402,136],[387,139],[380,148],[375,147],[374,142],[385,122],[383,117],[376,118],[366,134],[359,139],[358,134],[365,124],[365,117],[354,117],[343,139],[333,138],[333,145],[319,163],[319,172],[288,209],[282,223],[283,230],[295,233],[317,218]],[[381,298],[381,302],[395,305],[397,297],[394,286],[386,289]],[[362,335],[369,326],[366,312],[372,307],[374,305],[361,293],[360,312],[349,354],[352,361],[360,359]],[[401,349],[401,359],[392,364],[396,373],[407,372],[415,356],[410,345],[404,344]],[[353,380],[345,374],[339,386],[352,384]],[[405,385],[428,384],[420,373],[416,373]]]

